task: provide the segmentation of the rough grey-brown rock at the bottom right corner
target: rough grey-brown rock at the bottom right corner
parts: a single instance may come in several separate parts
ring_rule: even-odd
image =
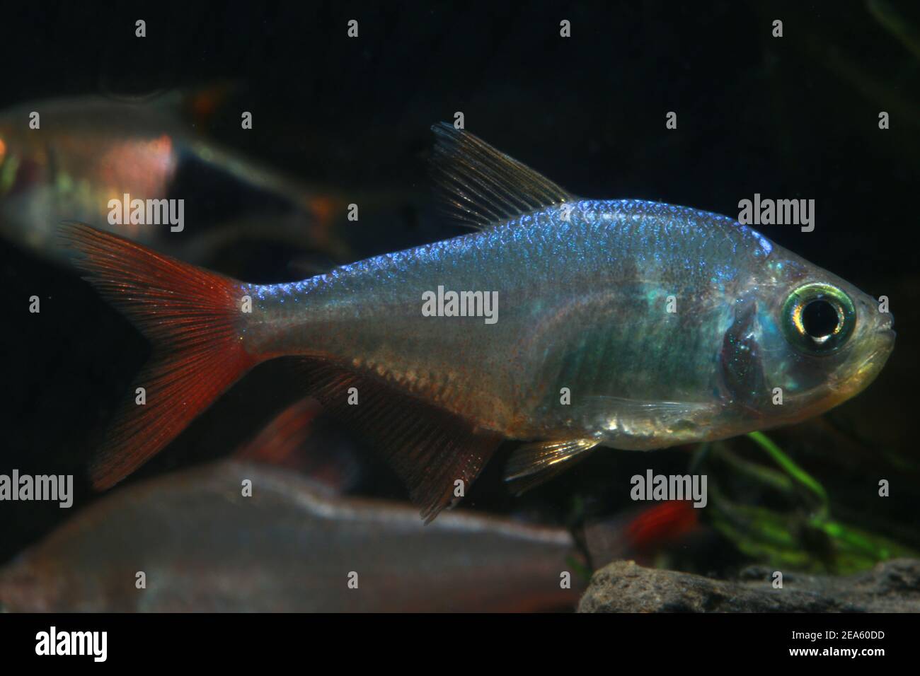
[[[747,568],[742,579],[709,579],[615,561],[601,568],[579,613],[918,613],[920,560],[895,559],[845,578]]]

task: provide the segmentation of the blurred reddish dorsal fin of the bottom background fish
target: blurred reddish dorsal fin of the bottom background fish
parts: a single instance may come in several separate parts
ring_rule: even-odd
[[[329,434],[322,405],[312,396],[295,401],[234,453],[236,460],[270,464],[309,476],[343,493],[358,483],[358,459],[348,441]]]

